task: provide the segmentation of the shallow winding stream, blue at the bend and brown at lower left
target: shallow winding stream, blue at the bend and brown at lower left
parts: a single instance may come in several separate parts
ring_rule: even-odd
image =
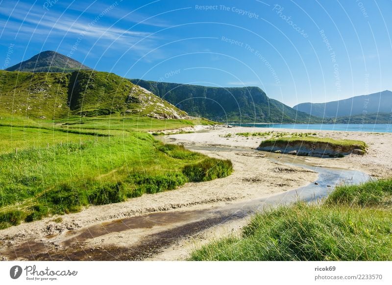
[[[229,147],[187,146],[190,150],[233,151]],[[236,151],[255,151],[235,148]],[[339,183],[358,184],[369,179],[368,175],[355,170],[313,166],[305,159],[290,155],[266,153],[266,159],[287,165],[311,169],[319,173],[318,179],[307,186],[289,190],[261,199],[226,203],[205,210],[166,211],[132,216],[123,219],[69,231],[70,237],[60,245],[44,241],[29,241],[3,251],[8,259],[27,260],[144,260],[153,257],[179,240],[190,238],[211,227],[243,219],[266,207],[292,203],[297,200],[308,202],[326,197]],[[321,158],[320,158],[321,159]],[[153,229],[153,231],[151,231]],[[157,231],[158,229],[158,231]],[[110,233],[136,230],[146,235],[131,246],[102,246],[86,249],[86,241]],[[148,230],[150,230],[148,232]],[[152,232],[152,233],[151,233]],[[129,235],[129,232],[127,233]]]

